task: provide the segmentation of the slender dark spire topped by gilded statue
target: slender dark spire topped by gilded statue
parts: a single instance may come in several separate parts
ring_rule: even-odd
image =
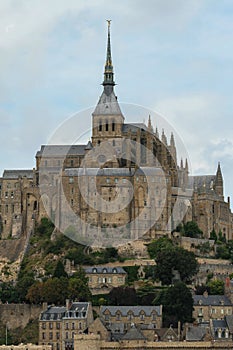
[[[107,20],[108,22],[108,41],[107,41],[107,56],[106,56],[106,62],[105,62],[105,69],[104,69],[104,91],[106,95],[110,95],[113,91],[113,86],[115,85],[113,76],[113,65],[112,65],[112,55],[111,55],[111,39],[110,39],[110,25],[111,21]]]

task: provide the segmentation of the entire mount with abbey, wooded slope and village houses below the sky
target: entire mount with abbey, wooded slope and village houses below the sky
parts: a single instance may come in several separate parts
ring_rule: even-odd
[[[176,133],[160,129],[153,112],[127,121],[111,29],[107,20],[87,141],[38,146],[34,167],[0,178],[0,343],[230,349],[233,214],[224,163],[192,175]]]

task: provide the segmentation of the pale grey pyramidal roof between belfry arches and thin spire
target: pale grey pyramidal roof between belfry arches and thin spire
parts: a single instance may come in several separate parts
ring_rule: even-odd
[[[110,95],[103,91],[92,115],[122,115],[114,91]]]

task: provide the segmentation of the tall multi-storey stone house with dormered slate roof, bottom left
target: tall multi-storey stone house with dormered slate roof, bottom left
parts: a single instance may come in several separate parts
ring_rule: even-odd
[[[49,306],[39,318],[39,344],[72,350],[74,334],[82,333],[92,322],[90,303],[67,301],[66,306]]]

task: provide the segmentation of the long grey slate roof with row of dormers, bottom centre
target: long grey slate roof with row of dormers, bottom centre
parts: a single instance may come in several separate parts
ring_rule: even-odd
[[[106,310],[109,310],[110,314],[114,316],[117,311],[120,311],[122,316],[127,316],[128,312],[131,311],[134,316],[139,316],[140,312],[143,311],[146,316],[150,316],[153,311],[161,316],[160,306],[106,306],[103,305],[100,307],[100,314],[104,314]]]

